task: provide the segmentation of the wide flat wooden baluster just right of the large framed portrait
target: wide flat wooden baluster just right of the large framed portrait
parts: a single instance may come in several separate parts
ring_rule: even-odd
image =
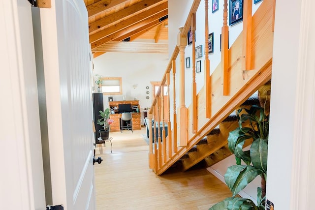
[[[243,70],[251,70],[252,60],[252,0],[243,4]]]

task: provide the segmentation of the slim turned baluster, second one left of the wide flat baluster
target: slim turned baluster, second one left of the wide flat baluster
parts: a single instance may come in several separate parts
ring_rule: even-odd
[[[205,98],[206,98],[206,118],[211,118],[211,85],[210,85],[210,60],[209,60],[209,18],[208,0],[205,0]],[[212,43],[213,44],[213,43]],[[197,118],[197,117],[196,117]]]

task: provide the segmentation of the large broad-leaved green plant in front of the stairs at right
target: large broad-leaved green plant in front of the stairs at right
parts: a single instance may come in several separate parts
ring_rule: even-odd
[[[233,194],[209,210],[265,209],[269,116],[266,116],[264,108],[253,105],[250,109],[239,109],[237,118],[239,127],[228,137],[228,147],[234,153],[237,165],[228,167],[224,175],[225,183]],[[251,149],[243,151],[245,140],[250,139],[253,140]],[[241,160],[246,165],[241,165]],[[261,177],[257,205],[250,199],[235,197],[257,176]]]

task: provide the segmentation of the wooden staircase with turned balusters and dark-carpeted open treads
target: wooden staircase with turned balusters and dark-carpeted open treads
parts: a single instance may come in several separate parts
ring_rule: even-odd
[[[226,1],[224,0],[224,2]],[[195,30],[193,23],[195,20],[194,12],[198,8],[197,4],[199,2],[200,0],[194,0],[192,4],[189,18],[186,22],[188,25],[185,25],[179,34],[181,41],[184,40],[182,36],[187,34],[190,23],[192,23],[191,29]],[[205,0],[205,3],[207,4],[207,0]],[[207,8],[207,5],[205,7]],[[247,103],[251,101],[247,99],[260,88],[260,97],[253,100],[254,103],[259,103],[259,100],[262,101],[265,98],[268,99],[268,93],[270,95],[270,82],[267,82],[271,80],[273,8],[273,0],[264,0],[254,16],[251,13],[244,16],[244,22],[251,19],[252,25],[247,26],[247,28],[244,26],[243,32],[230,49],[222,49],[222,59],[224,52],[226,52],[228,60],[221,60],[221,63],[211,76],[205,73],[205,85],[198,93],[194,91],[194,73],[192,74],[192,103],[188,108],[183,103],[185,102],[185,97],[184,99],[182,97],[185,95],[183,77],[180,77],[181,81],[175,80],[175,74],[178,73],[178,70],[176,70],[177,59],[180,60],[180,74],[185,71],[185,54],[183,53],[185,48],[181,45],[175,47],[148,115],[149,121],[153,119],[157,124],[168,125],[167,138],[165,138],[165,130],[163,129],[160,132],[158,129],[158,141],[155,142],[155,144],[158,144],[158,147],[150,145],[149,167],[157,175],[163,174],[170,168],[178,168],[180,165],[183,171],[200,162],[211,166],[231,154],[227,147],[227,137],[229,132],[238,126],[236,118],[230,116],[231,113],[240,106],[247,106]],[[224,13],[224,15],[226,14]],[[223,28],[226,29],[226,25],[222,27],[222,31]],[[247,34],[248,31],[251,31],[251,35]],[[222,34],[223,39],[224,37],[228,39],[227,36]],[[186,39],[185,36],[184,38]],[[224,48],[224,46],[222,47]],[[244,54],[244,48],[251,50],[247,50]],[[192,49],[194,49],[194,46],[192,46]],[[194,54],[192,53],[192,63],[195,63],[194,61]],[[204,72],[209,72],[208,61],[206,58]],[[244,66],[250,66],[249,70],[244,70]],[[227,72],[224,72],[223,69],[227,69]],[[227,79],[223,79],[225,77]],[[172,79],[173,89],[175,90],[173,95],[170,94],[170,91],[168,91],[167,95],[163,95],[161,90],[163,90],[163,87],[167,87],[169,90]],[[178,83],[180,91],[176,90],[175,84]],[[265,85],[266,83],[267,85]],[[266,86],[269,86],[269,89]],[[265,92],[267,95],[262,96],[262,92]],[[176,94],[179,94],[179,102]],[[173,104],[170,103],[170,99],[173,100]],[[166,113],[164,112],[165,104],[168,106],[168,112]],[[260,105],[264,106],[264,104]],[[172,116],[171,110],[173,111]],[[150,133],[150,139],[152,139],[153,135],[156,135],[156,133]],[[150,144],[152,144],[151,141]],[[247,144],[249,145],[251,142]],[[152,150],[152,148],[155,148],[155,150]]]

